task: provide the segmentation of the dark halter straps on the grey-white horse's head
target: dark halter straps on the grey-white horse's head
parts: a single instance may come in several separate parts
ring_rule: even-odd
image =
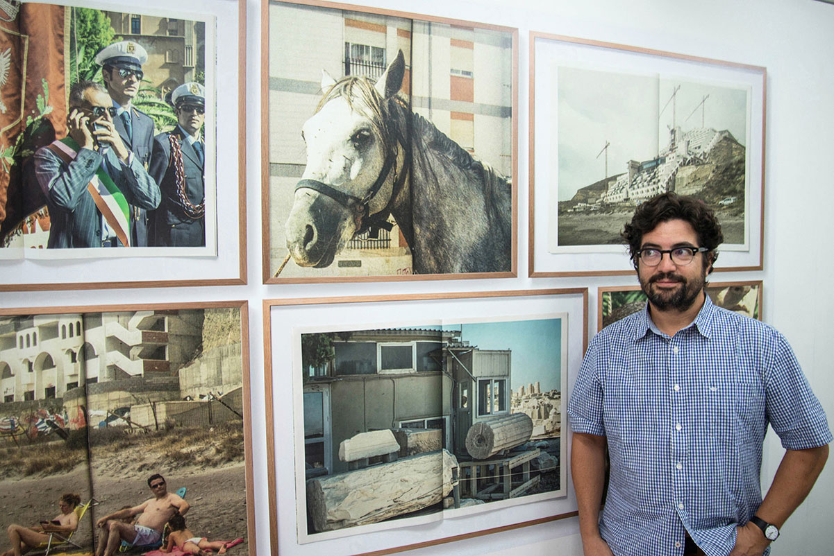
[[[330,197],[349,211],[354,211],[356,216],[359,217],[359,226],[354,236],[359,236],[360,234],[364,234],[365,231],[370,231],[369,236],[376,238],[379,236],[380,228],[391,231],[394,227],[388,221],[388,216],[391,213],[391,207],[394,205],[394,199],[397,198],[399,191],[402,191],[402,188],[405,185],[405,179],[408,177],[409,168],[411,167],[411,150],[406,148],[404,151],[405,156],[403,169],[399,173],[399,176],[397,176],[396,169],[397,156],[399,154],[399,143],[396,143],[394,144],[394,148],[390,149],[388,154],[385,155],[382,171],[379,172],[379,176],[377,176],[376,181],[374,181],[374,185],[371,186],[362,198],[349,195],[344,191],[339,191],[333,186],[329,186],[318,180],[301,180],[296,184],[295,191],[299,191],[299,189],[312,189],[313,191],[318,191],[324,196]],[[377,195],[377,193],[379,193],[379,190],[382,189],[382,186],[385,181],[388,180],[388,176],[392,169],[394,170],[394,189],[391,191],[391,196],[381,211],[374,212],[374,214],[369,215],[370,201]]]

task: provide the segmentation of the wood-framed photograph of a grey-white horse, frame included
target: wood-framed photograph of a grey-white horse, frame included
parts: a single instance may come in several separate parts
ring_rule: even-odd
[[[262,6],[264,283],[517,276],[518,29]]]

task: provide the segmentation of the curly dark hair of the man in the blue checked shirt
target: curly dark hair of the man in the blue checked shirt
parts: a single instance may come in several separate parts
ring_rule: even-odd
[[[715,265],[718,253],[716,248],[724,241],[721,224],[715,213],[704,201],[686,195],[677,195],[673,191],[661,193],[641,203],[634,211],[631,222],[623,228],[623,240],[629,246],[631,261],[637,269],[637,251],[640,251],[643,236],[654,230],[661,222],[682,220],[691,224],[698,236],[698,243],[710,251],[704,254],[704,264]]]

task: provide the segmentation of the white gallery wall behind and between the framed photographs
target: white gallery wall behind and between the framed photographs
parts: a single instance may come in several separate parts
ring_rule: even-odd
[[[828,242],[834,236],[834,6],[815,0],[480,0],[478,2],[398,2],[375,0],[366,5],[429,13],[435,16],[495,23],[520,30],[519,118],[519,276],[493,280],[263,285],[261,272],[261,142],[260,13],[256,0],[247,2],[247,285],[135,290],[70,290],[0,293],[0,306],[109,305],[207,300],[249,301],[249,345],[252,377],[254,483],[258,554],[269,554],[269,512],[266,497],[266,424],[264,400],[264,299],[334,295],[434,293],[472,290],[522,290],[587,286],[590,288],[590,330],[596,329],[596,291],[600,286],[631,285],[632,276],[530,279],[527,269],[527,156],[529,33],[550,32],[605,42],[681,52],[767,68],[766,194],[764,271],[720,273],[714,280],[764,280],[764,320],[783,332],[796,350],[811,386],[828,414],[834,415],[834,378],[829,345],[834,336],[834,299],[827,289],[834,273]],[[183,8],[188,9],[191,6]],[[195,0],[193,9],[198,10]],[[233,76],[219,76],[229,82]],[[218,138],[222,148],[223,138]],[[233,185],[229,185],[233,186]],[[224,187],[223,183],[219,187]],[[719,266],[720,266],[719,261]],[[91,277],[92,279],[92,277]],[[276,371],[279,372],[279,371]],[[575,369],[569,370],[575,373]],[[289,384],[289,377],[284,384]],[[282,377],[274,378],[281,387]],[[291,426],[276,423],[276,427]],[[279,457],[291,457],[289,449]],[[782,449],[774,434],[766,439],[762,484],[776,473]],[[289,480],[289,478],[286,478]],[[282,478],[279,478],[282,480]],[[831,492],[834,464],[823,471],[816,489],[787,522],[773,554],[827,554],[834,543]],[[282,516],[293,519],[293,516]],[[581,554],[575,518],[515,529],[486,537],[415,550],[434,554]]]

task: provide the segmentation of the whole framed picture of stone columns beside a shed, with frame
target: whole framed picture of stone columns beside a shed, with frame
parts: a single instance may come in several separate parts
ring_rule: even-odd
[[[563,408],[586,315],[585,288],[264,301],[273,554],[575,515]]]

